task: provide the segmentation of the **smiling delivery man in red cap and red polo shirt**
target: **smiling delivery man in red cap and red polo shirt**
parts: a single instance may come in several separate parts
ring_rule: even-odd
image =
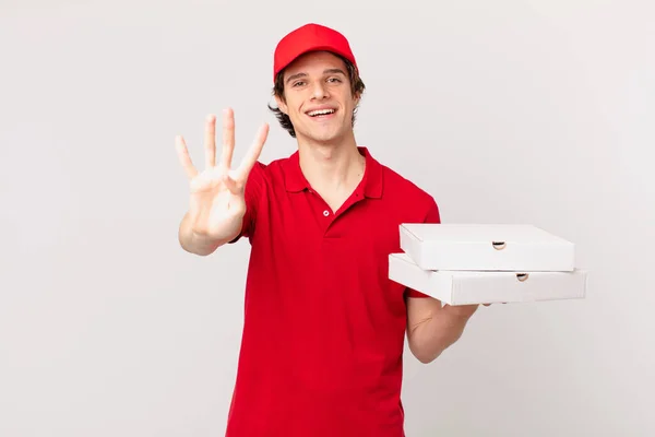
[[[429,363],[453,344],[477,306],[439,300],[388,279],[401,223],[439,223],[431,196],[359,146],[354,117],[364,91],[349,43],[308,24],[277,45],[274,108],[298,151],[258,162],[264,125],[233,168],[234,118],[205,135],[205,169],[178,153],[191,187],[179,229],[205,256],[251,244],[245,326],[228,437],[401,437],[402,356]]]

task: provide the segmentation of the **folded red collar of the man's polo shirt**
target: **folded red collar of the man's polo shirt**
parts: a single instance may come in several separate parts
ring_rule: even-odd
[[[382,196],[382,165],[373,158],[367,147],[358,146],[357,149],[366,158],[364,178],[359,186],[364,189],[367,198],[380,198]],[[300,192],[311,188],[300,168],[298,151],[294,152],[285,162],[284,184],[289,192]]]

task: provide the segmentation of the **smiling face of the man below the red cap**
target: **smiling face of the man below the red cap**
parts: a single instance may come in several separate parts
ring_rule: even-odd
[[[353,130],[353,96],[344,61],[326,51],[302,55],[284,73],[285,101],[277,106],[289,116],[296,138],[338,141]]]

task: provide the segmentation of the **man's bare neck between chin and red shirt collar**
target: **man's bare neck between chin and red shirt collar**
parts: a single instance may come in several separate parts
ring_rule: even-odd
[[[335,143],[298,140],[300,168],[317,190],[350,191],[364,176],[365,157],[354,134]]]

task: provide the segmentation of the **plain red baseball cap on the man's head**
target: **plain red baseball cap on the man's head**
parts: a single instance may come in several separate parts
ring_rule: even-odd
[[[341,55],[357,68],[350,45],[344,35],[333,28],[309,23],[284,36],[277,47],[273,61],[273,81],[286,66],[308,51],[325,50]]]

